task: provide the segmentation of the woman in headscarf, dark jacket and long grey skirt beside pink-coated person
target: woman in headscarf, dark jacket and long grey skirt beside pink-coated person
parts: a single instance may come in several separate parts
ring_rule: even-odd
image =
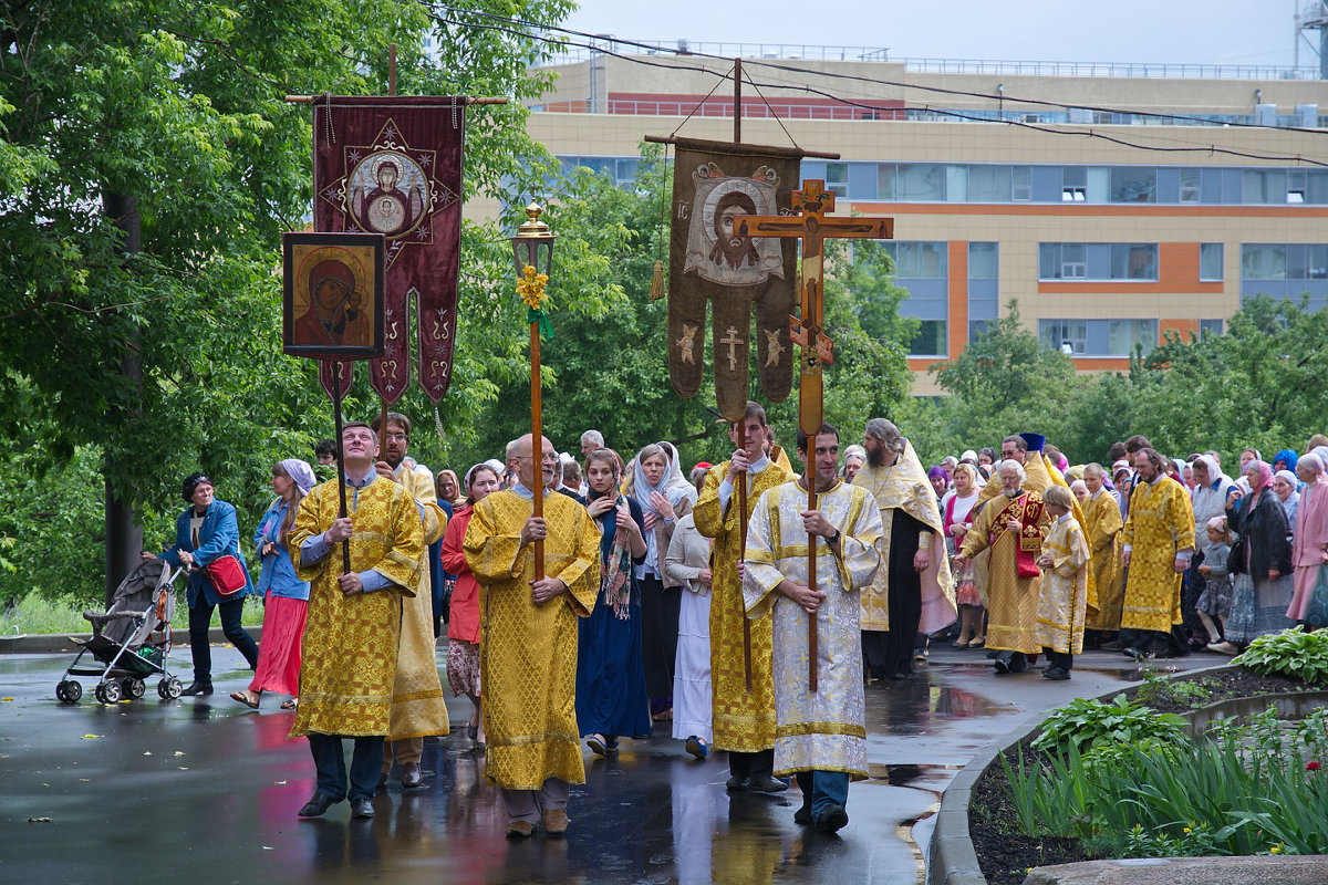
[[[1286,613],[1293,594],[1287,513],[1272,491],[1272,467],[1251,460],[1244,475],[1250,480],[1244,506],[1239,492],[1227,499],[1227,525],[1240,535],[1227,621],[1227,642],[1238,646],[1291,626]]]

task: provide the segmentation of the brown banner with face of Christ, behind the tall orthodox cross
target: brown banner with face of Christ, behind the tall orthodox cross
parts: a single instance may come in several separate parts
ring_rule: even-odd
[[[714,393],[720,414],[740,421],[749,399],[752,308],[761,389],[772,402],[793,386],[789,314],[797,291],[797,244],[738,238],[734,219],[789,211],[802,153],[679,139],[669,243],[668,365],[680,397],[703,381],[706,304],[713,305]]]

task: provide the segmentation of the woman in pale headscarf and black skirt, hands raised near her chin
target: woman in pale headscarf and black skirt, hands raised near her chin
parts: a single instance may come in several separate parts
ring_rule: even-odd
[[[676,452],[651,443],[636,454],[632,498],[641,508],[645,560],[635,567],[641,590],[641,654],[651,713],[659,722],[672,716],[673,662],[677,657],[677,616],[681,585],[664,575],[664,556],[677,520],[692,512],[696,488],[677,475]],[[681,479],[681,482],[677,482]]]

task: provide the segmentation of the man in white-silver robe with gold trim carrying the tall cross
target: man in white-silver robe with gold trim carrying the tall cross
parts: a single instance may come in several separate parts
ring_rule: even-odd
[[[774,774],[798,778],[802,807],[794,821],[833,833],[849,823],[849,782],[867,778],[858,594],[880,565],[882,525],[871,494],[838,478],[839,433],[822,425],[810,460],[809,448],[799,430],[798,456],[809,476],[762,494],[752,512],[742,594],[748,616],[773,628]],[[809,510],[813,471],[817,506]],[[817,551],[814,588],[809,540]],[[809,686],[809,614],[815,614],[815,691]]]

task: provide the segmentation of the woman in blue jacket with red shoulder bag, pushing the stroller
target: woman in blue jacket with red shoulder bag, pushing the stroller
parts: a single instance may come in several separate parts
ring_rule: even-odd
[[[175,520],[175,545],[161,553],[171,565],[189,565],[189,647],[194,655],[194,682],[181,694],[212,694],[212,650],[207,645],[207,628],[212,622],[212,609],[222,612],[222,632],[248,661],[258,666],[258,644],[243,626],[240,613],[244,597],[254,592],[254,581],[240,557],[240,529],[235,521],[235,507],[216,500],[212,480],[203,474],[190,474],[182,488],[190,507]],[[222,600],[212,589],[202,569],[223,556],[234,556],[244,571],[244,588]],[[143,551],[143,559],[158,556]]]

